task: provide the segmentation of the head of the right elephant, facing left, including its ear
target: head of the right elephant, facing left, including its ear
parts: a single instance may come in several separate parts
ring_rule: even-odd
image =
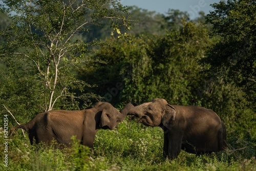
[[[139,117],[139,123],[146,126],[172,126],[175,123],[176,110],[164,99],[153,99],[132,108],[128,115]]]

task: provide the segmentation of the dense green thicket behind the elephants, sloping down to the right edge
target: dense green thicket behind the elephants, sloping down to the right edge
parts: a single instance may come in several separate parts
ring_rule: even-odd
[[[164,98],[172,104],[201,105],[215,111],[230,134],[255,137],[254,113],[246,107],[244,92],[221,77],[201,74],[207,66],[198,61],[218,40],[210,39],[209,33],[209,25],[184,22],[179,31],[140,35],[131,44],[109,39],[111,46],[94,56],[108,63],[84,66],[78,75],[97,85],[87,91],[97,92],[112,104]]]

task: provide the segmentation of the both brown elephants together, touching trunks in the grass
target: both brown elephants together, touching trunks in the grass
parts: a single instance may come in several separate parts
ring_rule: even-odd
[[[33,139],[35,143],[50,143],[55,139],[69,146],[75,135],[81,144],[93,148],[97,131],[115,129],[127,114],[138,117],[138,122],[146,126],[163,129],[163,155],[169,159],[177,158],[181,149],[204,154],[222,151],[227,146],[225,125],[214,111],[199,106],[170,105],[164,99],[137,106],[128,103],[120,112],[107,102],[98,102],[81,111],[49,111],[14,129],[26,130],[31,144]]]

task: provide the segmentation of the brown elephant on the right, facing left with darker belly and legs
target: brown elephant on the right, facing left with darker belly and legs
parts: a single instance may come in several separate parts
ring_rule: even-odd
[[[212,110],[199,106],[170,105],[164,99],[154,99],[132,108],[128,115],[139,117],[147,126],[164,130],[163,155],[177,158],[181,149],[204,154],[222,151],[226,146],[226,129]]]

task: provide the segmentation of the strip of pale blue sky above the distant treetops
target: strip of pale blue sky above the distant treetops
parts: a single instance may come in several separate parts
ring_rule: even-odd
[[[220,0],[120,0],[124,6],[137,6],[148,11],[156,11],[161,14],[168,12],[168,9],[178,9],[188,12],[191,19],[198,17],[199,11],[208,14],[214,9],[210,4],[219,3]]]

